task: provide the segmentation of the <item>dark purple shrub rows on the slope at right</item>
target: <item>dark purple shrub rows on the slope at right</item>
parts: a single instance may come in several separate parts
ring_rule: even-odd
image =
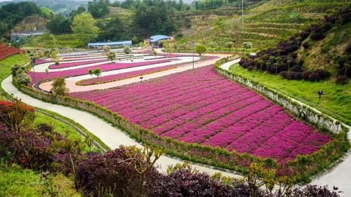
[[[330,73],[318,69],[313,72],[305,72],[303,69],[303,60],[298,59],[296,51],[303,47],[309,48],[309,43],[305,41],[308,37],[312,41],[324,39],[326,33],[335,25],[345,25],[351,20],[351,11],[349,8],[341,8],[340,10],[326,16],[317,25],[312,25],[300,34],[291,36],[287,41],[282,41],[274,48],[262,50],[257,55],[249,55],[243,57],[239,62],[241,67],[249,69],[257,69],[269,72],[270,74],[279,74],[289,80],[319,81],[329,78]],[[343,60],[342,58],[340,60]],[[347,68],[341,68],[340,72],[345,72]],[[341,80],[340,80],[341,81]]]

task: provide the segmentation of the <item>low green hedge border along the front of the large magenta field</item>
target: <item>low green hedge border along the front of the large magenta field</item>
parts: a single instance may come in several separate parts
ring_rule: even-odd
[[[216,67],[229,61],[230,58],[224,58],[216,62]],[[227,151],[219,147],[209,147],[200,144],[178,142],[169,137],[160,137],[152,132],[141,128],[140,125],[130,123],[128,119],[110,111],[105,107],[88,101],[77,100],[69,96],[54,96],[34,90],[28,86],[22,86],[13,79],[13,85],[22,93],[35,97],[45,102],[62,104],[75,109],[88,111],[105,121],[108,121],[124,132],[128,133],[138,142],[149,144],[154,147],[164,149],[165,153],[170,156],[176,156],[194,163],[203,163],[213,165],[218,168],[234,170],[246,174],[251,162],[263,162],[267,167],[274,167],[282,172],[288,172],[293,182],[309,182],[312,175],[328,168],[333,162],[338,160],[349,149],[347,140],[347,130],[343,128],[338,134],[331,133],[333,140],[325,144],[318,151],[309,155],[297,156],[292,161],[285,164],[278,164],[272,158],[259,158],[251,154],[240,154],[236,151]],[[284,169],[284,170],[282,170]]]

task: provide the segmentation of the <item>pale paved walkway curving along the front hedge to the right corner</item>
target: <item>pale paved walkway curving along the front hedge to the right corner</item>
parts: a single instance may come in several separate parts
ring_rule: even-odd
[[[227,67],[227,65],[234,64],[235,61],[237,60],[231,61],[230,63],[226,64],[225,67]],[[92,114],[89,114],[85,111],[79,111],[77,109],[64,107],[58,104],[42,102],[40,100],[36,100],[32,97],[29,97],[28,95],[24,95],[12,85],[11,81],[12,77],[10,76],[7,79],[5,79],[3,83],[1,83],[1,86],[7,93],[13,94],[15,97],[21,98],[23,102],[30,104],[34,107],[55,111],[56,113],[61,114],[62,116],[76,121],[77,123],[84,126],[84,128],[89,130],[91,133],[93,133],[93,135],[99,137],[100,140],[107,144],[107,146],[111,149],[115,149],[120,145],[136,145],[138,147],[141,147],[141,145],[138,144],[138,142],[132,140],[130,137],[128,137],[128,135],[123,133],[118,128],[114,128],[110,123],[102,121],[102,119],[93,116]],[[162,156],[159,159],[157,165],[159,165],[159,169],[161,171],[165,172],[168,165],[176,165],[176,163],[183,163],[183,161],[180,161],[176,158]],[[212,175],[215,172],[222,172],[223,175],[226,176],[241,177],[239,175],[234,175],[232,173],[223,172],[220,170],[214,170],[211,167],[206,167],[202,165],[192,165],[192,168],[197,168],[201,172],[207,172],[210,175]],[[326,172],[325,175],[314,179],[311,184],[327,184],[329,186],[337,186],[340,189],[340,191],[343,191],[343,193],[341,193],[341,196],[351,196],[351,152],[344,157],[343,161],[335,165],[334,168]]]

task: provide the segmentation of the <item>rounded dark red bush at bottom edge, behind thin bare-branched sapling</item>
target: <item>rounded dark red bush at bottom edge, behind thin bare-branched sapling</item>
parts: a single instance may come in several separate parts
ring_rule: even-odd
[[[135,196],[140,177],[132,164],[124,162],[128,158],[126,149],[119,148],[106,154],[91,154],[80,161],[77,178],[86,196],[98,196],[99,187],[115,188],[114,196]],[[145,195],[150,196],[150,189],[159,176],[154,168],[147,174]]]

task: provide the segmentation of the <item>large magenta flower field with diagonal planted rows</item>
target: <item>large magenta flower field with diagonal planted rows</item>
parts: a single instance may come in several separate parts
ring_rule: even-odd
[[[289,161],[331,140],[213,67],[109,90],[72,93],[182,142]]]

